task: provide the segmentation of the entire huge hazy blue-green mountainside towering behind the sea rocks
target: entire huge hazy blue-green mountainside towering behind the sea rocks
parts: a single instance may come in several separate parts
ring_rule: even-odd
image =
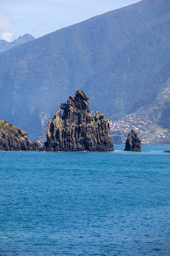
[[[169,16],[143,0],[0,53],[1,119],[35,138],[78,88],[92,113],[127,113],[170,59]]]

